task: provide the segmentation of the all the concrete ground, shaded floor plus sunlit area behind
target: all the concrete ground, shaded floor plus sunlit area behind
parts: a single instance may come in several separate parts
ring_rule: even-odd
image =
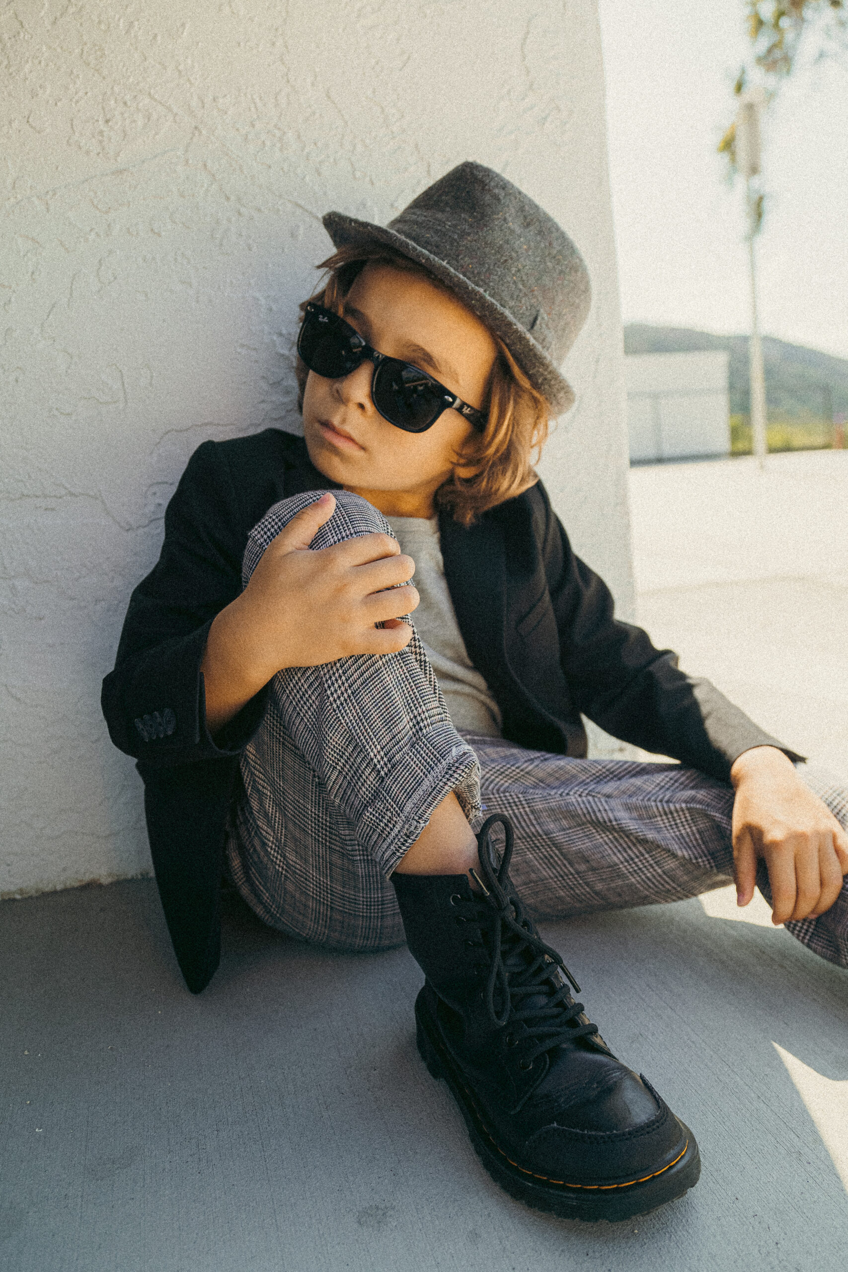
[[[842,455],[633,473],[643,621],[843,772],[847,495]],[[801,590],[756,590],[788,577]],[[592,1226],[478,1165],[414,1051],[406,950],[323,954],[234,904],[196,999],[151,881],[5,902],[0,1268],[842,1269],[848,973],[763,911],[721,890],[545,925],[704,1161],[684,1199]]]

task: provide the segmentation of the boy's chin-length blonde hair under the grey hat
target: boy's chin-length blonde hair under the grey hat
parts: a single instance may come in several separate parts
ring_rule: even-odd
[[[428,282],[455,295],[440,279],[409,257],[381,243],[343,247],[318,266],[328,270],[329,279],[309,298],[341,314],[345,298],[367,262],[390,265],[423,275]],[[309,300],[300,305],[304,313]],[[533,464],[548,436],[549,406],[533,387],[502,340],[491,333],[497,345],[483,411],[487,416],[482,431],[474,430],[456,455],[453,476],[436,491],[436,506],[450,510],[462,525],[472,525],[489,508],[520,495],[537,481]],[[297,357],[297,406],[303,411],[304,389],[309,371]],[[465,469],[470,476],[460,476]]]

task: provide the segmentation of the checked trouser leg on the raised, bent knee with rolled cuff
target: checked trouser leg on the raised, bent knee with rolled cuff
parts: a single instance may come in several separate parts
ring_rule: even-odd
[[[314,550],[392,534],[366,500],[334,491]],[[320,491],[275,504],[250,533],[247,585],[266,547]],[[477,756],[454,729],[417,635],[398,654],[287,668],[242,756],[229,836],[233,879],[266,922],[337,949],[403,941],[389,875],[455,791],[479,809]]]

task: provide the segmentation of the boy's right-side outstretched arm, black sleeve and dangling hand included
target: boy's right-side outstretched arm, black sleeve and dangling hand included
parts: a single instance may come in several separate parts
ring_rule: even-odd
[[[617,738],[732,782],[740,906],[754,894],[762,857],[772,922],[823,915],[842,890],[848,834],[788,763],[804,757],[764,733],[709,681],[681,672],[676,654],[655,649],[641,627],[619,622],[609,589],[573,555],[549,505],[544,557],[562,665],[580,710]]]

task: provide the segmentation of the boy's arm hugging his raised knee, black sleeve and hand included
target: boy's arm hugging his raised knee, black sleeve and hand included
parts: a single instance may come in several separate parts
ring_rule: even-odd
[[[236,754],[277,672],[408,644],[400,616],[418,603],[408,583],[414,562],[385,534],[310,550],[334,508],[325,492],[292,516],[242,590],[250,516],[221,449],[205,443],[195,452],[103,682],[103,714],[121,750],[159,768]]]

